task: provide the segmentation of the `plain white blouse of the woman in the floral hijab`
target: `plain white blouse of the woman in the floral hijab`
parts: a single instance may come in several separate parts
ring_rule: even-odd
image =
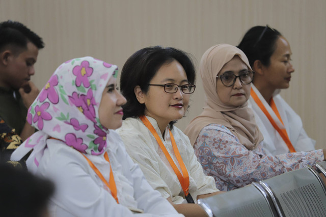
[[[56,184],[51,198],[51,216],[131,216],[130,210],[143,210],[142,216],[183,216],[154,191],[137,164],[128,156],[119,136],[111,131],[106,152],[117,186],[119,204],[86,159],[61,141],[48,139],[37,174]],[[118,141],[118,142],[117,142]],[[100,156],[85,154],[106,180],[110,164]],[[28,165],[29,166],[29,165]],[[139,215],[139,214],[138,214]]]

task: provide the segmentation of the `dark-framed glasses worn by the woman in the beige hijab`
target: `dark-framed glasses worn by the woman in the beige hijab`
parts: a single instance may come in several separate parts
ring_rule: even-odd
[[[244,71],[236,76],[232,72],[226,72],[223,75],[216,76],[216,78],[220,78],[224,86],[229,87],[234,85],[236,78],[239,78],[242,84],[250,84],[253,81],[254,74],[253,71]]]

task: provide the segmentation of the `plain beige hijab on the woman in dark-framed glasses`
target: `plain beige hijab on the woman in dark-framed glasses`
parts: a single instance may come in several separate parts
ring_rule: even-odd
[[[248,108],[248,102],[241,106],[227,106],[221,102],[216,90],[216,76],[235,55],[238,55],[251,70],[247,56],[232,45],[215,45],[202,56],[200,75],[206,95],[205,106],[203,112],[194,118],[184,131],[192,145],[195,144],[200,131],[211,123],[224,125],[249,150],[263,140],[256,125],[254,113]]]

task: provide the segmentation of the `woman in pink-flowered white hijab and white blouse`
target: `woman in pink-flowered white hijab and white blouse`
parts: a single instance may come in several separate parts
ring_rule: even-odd
[[[117,66],[93,57],[62,64],[28,111],[39,131],[12,154],[56,184],[52,216],[177,216],[134,164],[114,131],[126,102],[116,87]],[[113,129],[113,130],[109,130]]]

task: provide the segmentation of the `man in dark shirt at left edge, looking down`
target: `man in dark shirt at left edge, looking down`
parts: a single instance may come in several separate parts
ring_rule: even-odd
[[[0,117],[22,141],[35,132],[26,122],[26,114],[39,94],[30,79],[43,47],[42,39],[23,24],[11,20],[0,23]]]

